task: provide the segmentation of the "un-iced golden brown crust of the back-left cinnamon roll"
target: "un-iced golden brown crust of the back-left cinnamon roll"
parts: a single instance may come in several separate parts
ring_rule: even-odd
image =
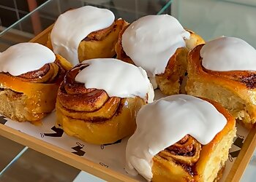
[[[116,55],[114,50],[118,33],[127,25],[122,19],[115,20],[108,28],[91,32],[82,41],[78,47],[78,59],[80,62],[92,58],[113,58]],[[50,33],[48,36],[47,47],[53,50],[50,42]]]

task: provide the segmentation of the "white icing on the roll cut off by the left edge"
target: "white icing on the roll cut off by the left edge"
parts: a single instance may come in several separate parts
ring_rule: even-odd
[[[47,63],[53,63],[55,59],[54,53],[41,44],[15,44],[0,53],[0,72],[18,76],[42,68]]]

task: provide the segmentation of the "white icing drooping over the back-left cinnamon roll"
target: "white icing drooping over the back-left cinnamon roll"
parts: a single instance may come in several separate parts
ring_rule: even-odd
[[[69,60],[74,66],[79,63],[78,47],[89,33],[108,28],[115,15],[108,9],[85,6],[60,15],[50,33],[53,52]]]

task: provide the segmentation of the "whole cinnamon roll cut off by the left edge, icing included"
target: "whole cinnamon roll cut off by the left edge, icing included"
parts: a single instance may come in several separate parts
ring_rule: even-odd
[[[53,111],[67,60],[37,43],[16,44],[0,54],[0,113],[36,122]]]

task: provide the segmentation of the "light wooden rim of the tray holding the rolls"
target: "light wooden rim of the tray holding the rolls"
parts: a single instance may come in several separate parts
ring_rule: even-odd
[[[34,39],[31,39],[31,42],[38,42],[40,44],[46,44],[48,40],[48,33],[52,29],[53,25],[49,28],[39,33]],[[84,170],[92,175],[96,175],[99,178],[104,179],[105,181],[137,181],[133,178],[130,178],[127,175],[111,170],[104,165],[100,165],[95,162],[91,162],[89,159],[79,157],[76,154],[72,154],[69,151],[61,149],[59,146],[55,146],[48,142],[42,141],[38,138],[34,138],[31,135],[20,132],[18,130],[7,127],[4,124],[0,124],[0,135],[10,138],[12,141],[18,142],[24,146],[28,146],[31,149],[41,152],[42,154],[58,159],[61,162],[67,163],[73,167],[76,167],[80,170]],[[225,181],[239,181],[241,175],[243,175],[246,165],[249,162],[249,159],[252,157],[252,154],[256,146],[256,128],[253,128],[247,135],[244,144],[241,148],[241,151],[234,162],[230,173],[228,173]]]

